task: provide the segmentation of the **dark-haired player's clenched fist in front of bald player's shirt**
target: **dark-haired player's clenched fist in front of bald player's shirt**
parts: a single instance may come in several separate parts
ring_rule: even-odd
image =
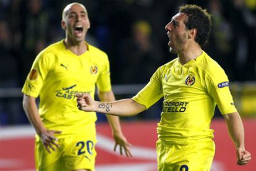
[[[76,94],[77,96],[77,107],[81,111],[94,112],[95,111],[95,101],[92,99],[90,94]]]

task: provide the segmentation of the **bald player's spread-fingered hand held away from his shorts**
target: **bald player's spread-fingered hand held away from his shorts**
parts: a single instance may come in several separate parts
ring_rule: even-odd
[[[114,141],[116,143],[114,144],[114,151],[116,151],[117,146],[119,146],[120,154],[123,154],[123,151],[126,153],[126,157],[132,157],[132,153],[130,152],[129,147],[132,146],[128,141],[126,140],[126,137],[122,135],[121,133],[114,133]]]

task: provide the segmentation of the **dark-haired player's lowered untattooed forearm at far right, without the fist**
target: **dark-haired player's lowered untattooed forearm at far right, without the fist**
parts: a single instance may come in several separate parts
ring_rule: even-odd
[[[244,149],[244,125],[237,112],[224,115],[231,136],[236,148]]]

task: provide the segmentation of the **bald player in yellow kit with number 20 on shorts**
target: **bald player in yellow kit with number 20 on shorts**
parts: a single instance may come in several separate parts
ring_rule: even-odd
[[[61,25],[66,38],[38,54],[22,89],[23,108],[36,131],[36,170],[94,170],[96,114],[79,111],[75,94],[94,96],[96,84],[102,101],[114,101],[108,56],[85,42],[90,21],[82,4],[66,6]],[[108,121],[114,151],[120,146],[121,154],[130,157],[119,118],[109,115]]]

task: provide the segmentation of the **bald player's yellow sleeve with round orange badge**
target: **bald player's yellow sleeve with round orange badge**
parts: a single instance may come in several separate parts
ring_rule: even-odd
[[[45,77],[48,74],[50,67],[49,65],[49,56],[43,52],[36,56],[30,73],[28,74],[25,84],[23,85],[22,93],[35,98],[38,97],[43,86],[43,80],[45,80]]]

